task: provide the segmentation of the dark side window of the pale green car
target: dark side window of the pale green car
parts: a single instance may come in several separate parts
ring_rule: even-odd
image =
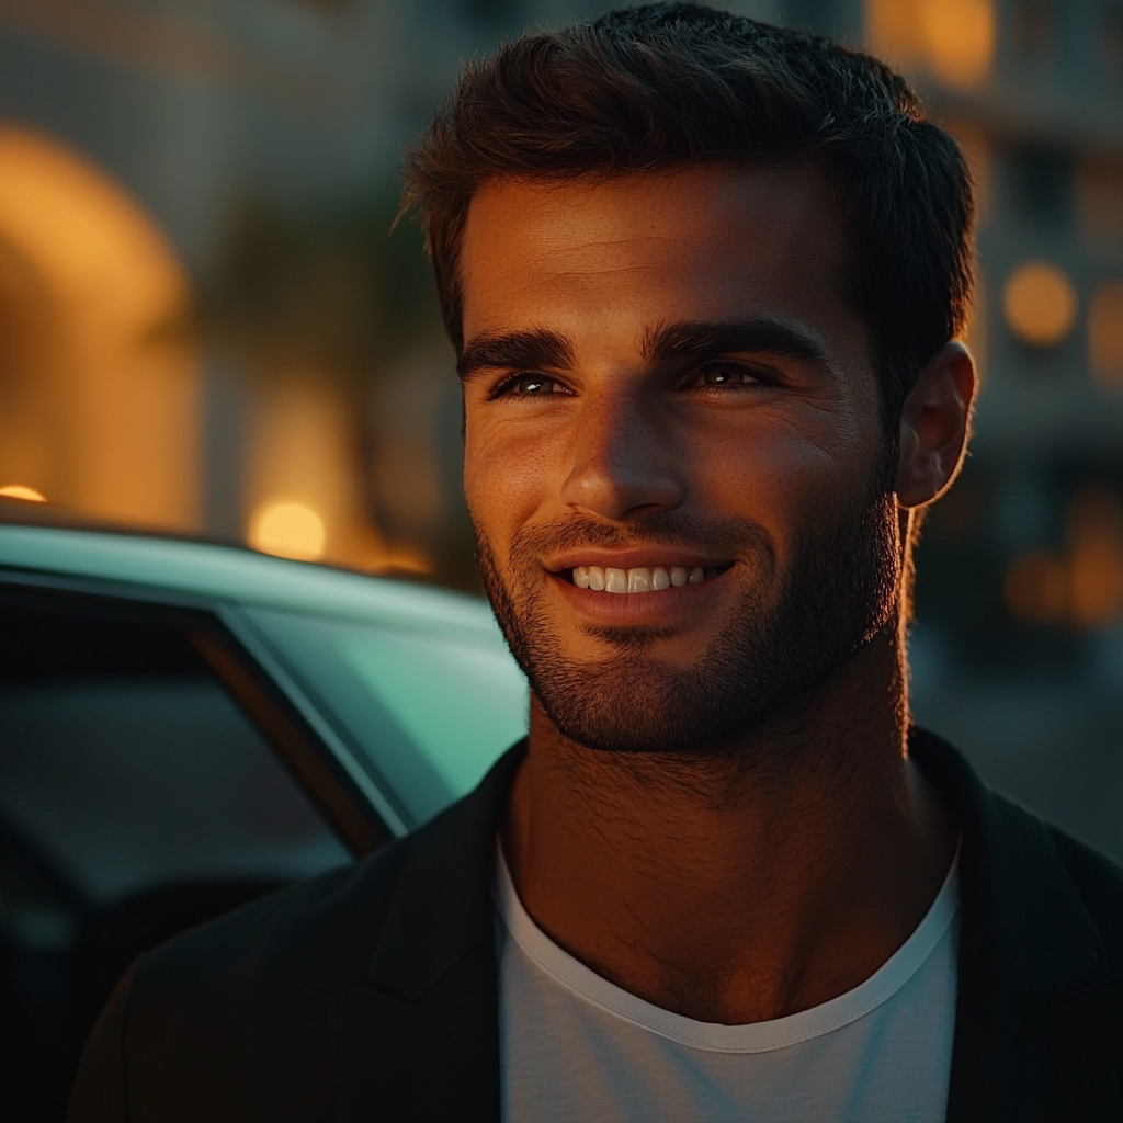
[[[0,1117],[64,1117],[138,953],[349,860],[183,628],[0,585]]]

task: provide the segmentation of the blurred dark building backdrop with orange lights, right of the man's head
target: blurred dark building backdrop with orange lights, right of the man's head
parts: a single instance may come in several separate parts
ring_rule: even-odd
[[[983,392],[917,557],[916,714],[1123,857],[1123,3],[866,0],[809,18],[850,35],[860,19],[916,80],[980,207]]]

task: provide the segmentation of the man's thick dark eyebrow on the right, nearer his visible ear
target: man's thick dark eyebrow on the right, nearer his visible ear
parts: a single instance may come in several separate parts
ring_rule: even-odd
[[[830,351],[814,332],[786,320],[769,318],[739,322],[686,320],[665,323],[645,335],[641,349],[649,363],[752,354],[814,363],[829,371],[836,366]]]

